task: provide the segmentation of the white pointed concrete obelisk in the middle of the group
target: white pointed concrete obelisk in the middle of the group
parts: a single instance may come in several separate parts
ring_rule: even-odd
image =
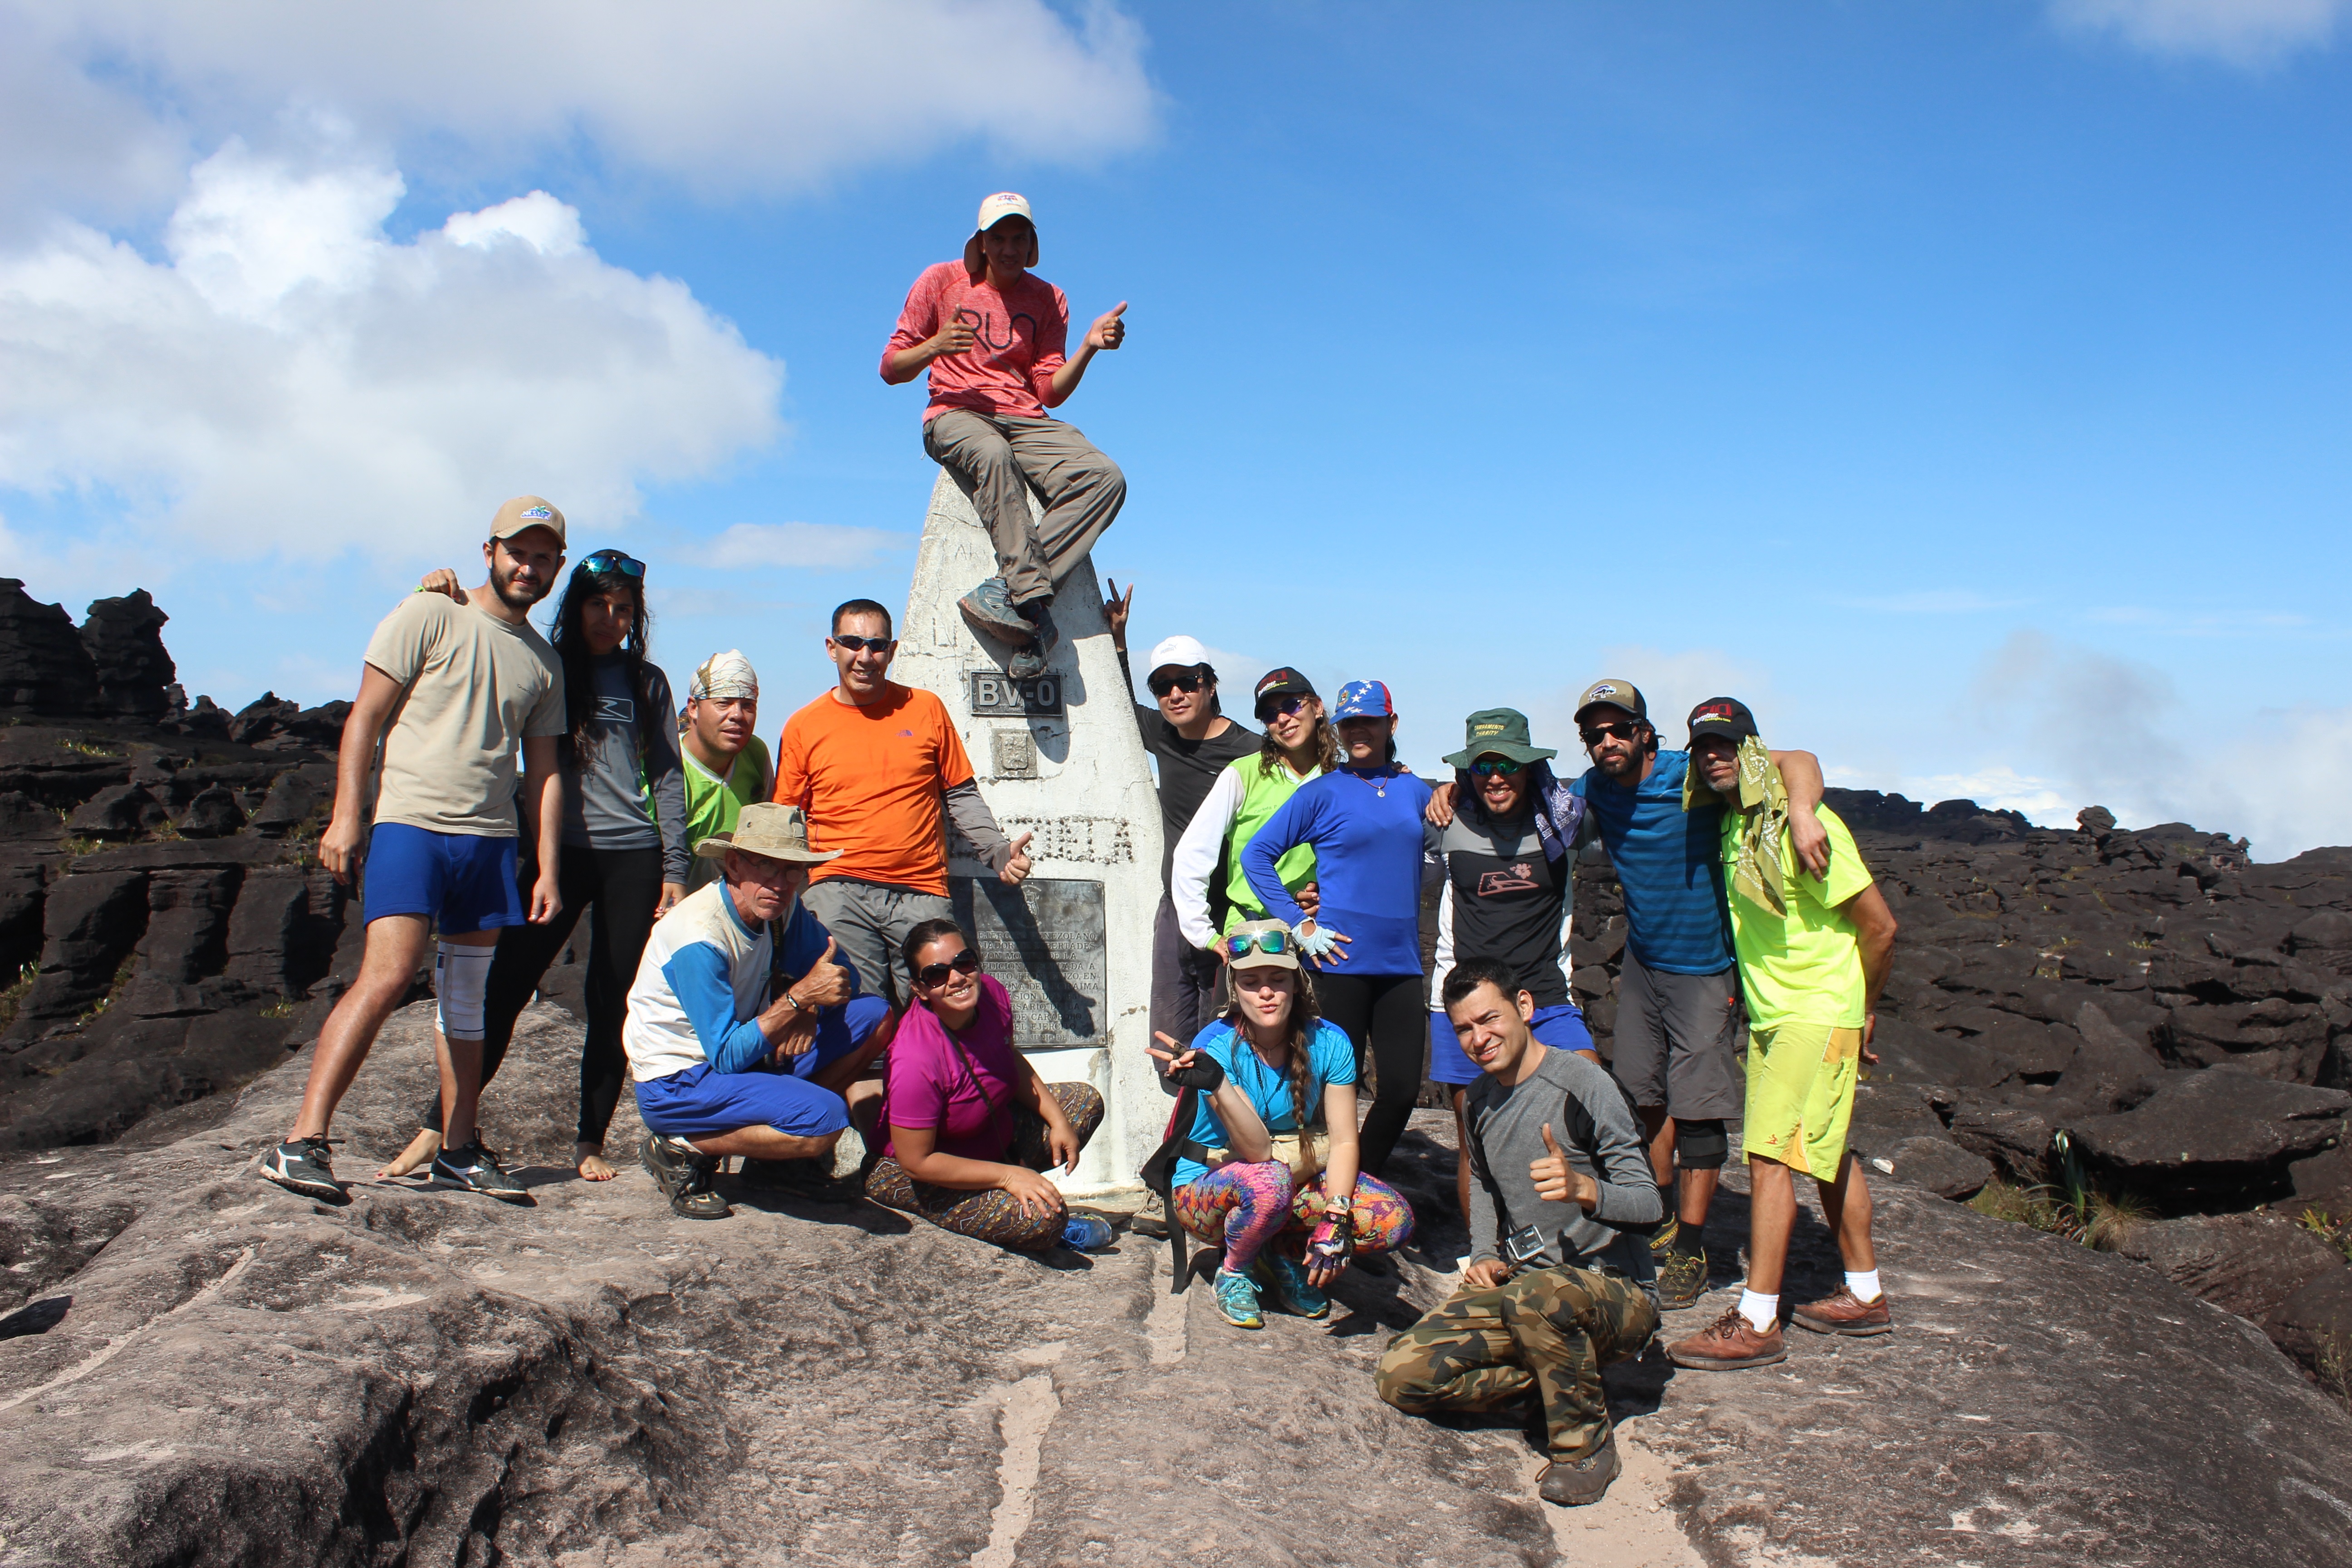
[[[1030,496],[1030,510],[1037,498]],[[891,677],[938,696],[1009,837],[1035,835],[1035,870],[1009,889],[948,830],[948,891],[988,973],[1014,999],[1014,1044],[1049,1084],[1103,1093],[1103,1128],[1063,1190],[1136,1185],[1160,1147],[1169,1098],[1150,1044],[1152,912],[1160,907],[1160,797],[1134,698],[1082,559],[1054,592],[1061,642],[1035,682],[1011,682],[1011,649],[981,639],[955,602],[997,574],[981,515],[946,473],[915,555]]]

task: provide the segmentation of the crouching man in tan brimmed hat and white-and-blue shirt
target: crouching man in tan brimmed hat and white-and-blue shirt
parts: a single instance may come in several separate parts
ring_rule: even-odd
[[[720,882],[687,893],[644,945],[621,1046],[637,1079],[644,1168],[689,1220],[727,1218],[720,1161],[818,1161],[849,1128],[844,1091],[882,1056],[889,1004],[858,994],[858,971],[800,907],[809,849],[800,806],[757,802],[731,835],[694,846]],[[771,976],[783,980],[769,997]],[[786,1166],[793,1187],[797,1166]],[[800,1182],[828,1194],[823,1171]]]

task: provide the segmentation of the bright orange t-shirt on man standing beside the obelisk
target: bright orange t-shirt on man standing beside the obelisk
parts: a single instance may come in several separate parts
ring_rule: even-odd
[[[898,682],[863,708],[828,691],[786,719],[776,741],[776,804],[809,813],[809,849],[842,851],[811,865],[809,882],[856,877],[946,893],[941,790],[969,778],[948,705]]]

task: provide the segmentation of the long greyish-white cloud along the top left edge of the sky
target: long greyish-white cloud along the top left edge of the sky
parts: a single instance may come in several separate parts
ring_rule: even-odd
[[[0,87],[38,94],[0,108],[0,181],[146,188],[158,146],[287,106],[489,169],[586,141],[703,190],[807,188],[960,141],[1094,160],[1155,134],[1141,56],[1108,0],[1075,19],[1044,0],[0,0]]]

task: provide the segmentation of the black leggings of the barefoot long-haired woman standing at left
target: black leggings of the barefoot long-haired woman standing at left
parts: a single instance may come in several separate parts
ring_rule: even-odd
[[[522,900],[529,905],[529,863],[520,867]],[[572,940],[581,910],[595,905],[588,919],[588,1037],[581,1041],[581,1126],[579,1143],[604,1145],[612,1110],[621,1103],[621,1077],[628,1058],[621,1051],[621,1018],[628,1011],[628,987],[644,957],[644,938],[654,933],[654,905],[661,903],[659,849],[574,849],[564,844],[555,865],[555,884],[564,907],[546,926],[508,926],[489,959],[489,987],[482,999],[482,1086],[499,1074],[506,1046],[515,1039],[515,1018],[539,990],[548,964]],[[426,1107],[419,1126],[440,1131],[440,1095]]]

